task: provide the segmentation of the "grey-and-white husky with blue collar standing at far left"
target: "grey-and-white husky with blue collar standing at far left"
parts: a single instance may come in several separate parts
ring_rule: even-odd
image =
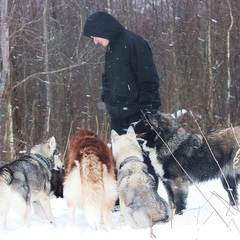
[[[51,169],[58,147],[54,137],[35,145],[25,155],[0,168],[0,215],[2,227],[7,227],[7,214],[14,209],[26,225],[31,214],[31,203],[42,209],[50,223],[55,225],[49,194]]]

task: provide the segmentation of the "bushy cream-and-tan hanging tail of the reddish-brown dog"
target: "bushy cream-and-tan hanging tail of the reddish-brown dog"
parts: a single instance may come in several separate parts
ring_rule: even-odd
[[[83,193],[83,213],[92,228],[101,223],[104,204],[103,164],[94,155],[85,155],[81,161],[80,176]]]

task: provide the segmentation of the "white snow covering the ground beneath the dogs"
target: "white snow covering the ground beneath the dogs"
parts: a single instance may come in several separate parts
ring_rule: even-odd
[[[200,190],[200,191],[199,191]],[[166,199],[162,185],[159,194]],[[208,202],[208,201],[211,203]],[[119,212],[112,213],[115,229],[106,231],[104,228],[92,230],[83,218],[81,209],[75,213],[74,226],[67,226],[67,206],[64,199],[51,198],[56,226],[48,223],[34,213],[31,214],[28,226],[20,226],[18,215],[9,212],[7,229],[0,230],[1,240],[24,239],[239,239],[240,211],[228,206],[228,197],[221,186],[220,180],[209,181],[190,187],[187,210],[183,215],[174,215],[173,220],[166,224],[154,225],[151,228],[134,230],[119,222]],[[0,219],[1,220],[1,219]]]

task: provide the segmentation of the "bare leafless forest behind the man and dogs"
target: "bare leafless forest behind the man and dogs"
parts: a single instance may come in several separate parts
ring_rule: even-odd
[[[101,102],[105,48],[83,35],[106,11],[148,40],[160,110],[208,134],[240,124],[239,0],[1,0],[0,156],[12,161],[51,136],[89,128],[109,141]]]

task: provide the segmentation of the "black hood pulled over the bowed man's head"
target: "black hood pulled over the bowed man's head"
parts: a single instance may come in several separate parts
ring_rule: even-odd
[[[101,37],[114,42],[124,29],[112,15],[106,12],[95,12],[87,18],[83,33],[87,37]]]

